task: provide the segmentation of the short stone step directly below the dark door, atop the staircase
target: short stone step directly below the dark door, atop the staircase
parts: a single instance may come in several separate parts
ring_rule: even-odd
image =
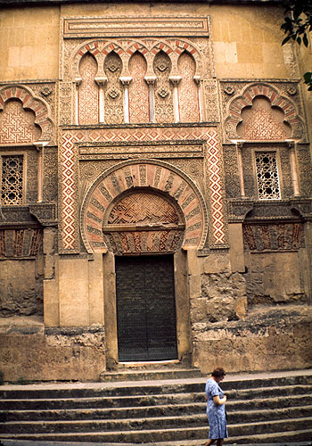
[[[172,368],[172,369],[144,369],[144,370],[119,370],[114,372],[103,372],[100,381],[127,382],[127,381],[154,381],[168,379],[190,379],[201,377],[201,370],[198,368]]]

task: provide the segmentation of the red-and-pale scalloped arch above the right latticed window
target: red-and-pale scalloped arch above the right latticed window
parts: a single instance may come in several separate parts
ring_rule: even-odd
[[[271,107],[278,107],[283,111],[284,121],[291,126],[291,137],[302,139],[305,136],[303,121],[291,100],[281,95],[275,87],[257,83],[245,88],[242,95],[235,96],[229,104],[226,118],[228,139],[237,139],[236,128],[242,122],[242,109],[252,106],[252,101],[257,96],[265,96],[270,101]]]

